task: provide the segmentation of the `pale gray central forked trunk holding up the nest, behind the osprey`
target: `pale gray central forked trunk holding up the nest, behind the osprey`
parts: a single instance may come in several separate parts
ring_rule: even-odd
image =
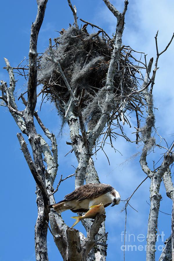
[[[107,5],[108,1],[107,2],[105,1],[105,3]],[[75,117],[75,115],[73,114],[73,106],[75,106],[75,104],[73,104],[71,100],[73,99],[73,95],[71,95],[72,98],[70,99],[69,103],[65,108],[65,111],[67,110],[65,115],[70,127],[70,138],[73,146],[73,151],[75,152],[75,155],[79,163],[76,169],[75,188],[83,185],[85,178],[86,178],[86,183],[99,182],[99,178],[94,168],[91,155],[92,155],[93,145],[95,144],[95,141],[97,140],[103,128],[105,127],[110,117],[110,113],[113,110],[113,95],[112,95],[114,89],[113,78],[115,75],[116,65],[119,60],[120,52],[122,49],[122,33],[124,29],[124,15],[127,9],[127,4],[128,1],[125,1],[125,9],[122,14],[121,13],[118,13],[118,15],[114,14],[117,17],[117,28],[116,28],[114,50],[111,56],[111,61],[110,61],[107,79],[106,79],[106,87],[104,87],[106,88],[106,99],[102,109],[102,115],[98,120],[96,126],[92,130],[88,131],[87,137],[86,137],[86,133],[84,133],[83,120],[81,119],[81,117],[79,117],[79,121],[78,121],[78,118]],[[81,74],[83,74],[83,70],[81,70],[77,75],[81,76]],[[64,77],[64,75],[62,77]],[[69,90],[70,86],[67,86],[67,88]],[[80,115],[80,110],[79,110],[79,115]],[[79,135],[79,128],[81,129],[82,137],[81,135]],[[86,144],[88,144],[88,146],[86,146]],[[85,220],[83,221],[83,224],[86,228],[86,231],[88,232],[91,226],[91,222]],[[99,230],[98,237],[104,236],[105,233],[106,233],[105,225],[102,224],[102,228],[100,228]],[[97,251],[95,251],[96,260],[101,260],[101,261],[106,260],[106,249],[107,249],[106,239],[107,239],[106,237],[102,239],[103,246],[98,245]],[[89,260],[94,259],[94,251],[91,251],[88,259]]]

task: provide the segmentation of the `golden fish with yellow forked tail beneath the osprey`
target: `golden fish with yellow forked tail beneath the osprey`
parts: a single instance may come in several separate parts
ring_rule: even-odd
[[[83,216],[71,217],[71,218],[76,219],[76,221],[74,222],[73,226],[71,226],[71,228],[73,228],[82,219],[95,218],[97,214],[102,215],[104,213],[105,213],[105,208],[102,203],[100,203],[99,205],[96,205],[96,206],[90,206],[90,210],[88,210],[88,212],[86,212]]]

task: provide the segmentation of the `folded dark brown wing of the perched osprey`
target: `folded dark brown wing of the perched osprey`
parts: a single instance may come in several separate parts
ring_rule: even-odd
[[[113,189],[112,186],[102,183],[88,183],[86,185],[80,186],[75,191],[67,194],[65,196],[66,200],[85,200],[99,197],[102,194],[105,194]]]

